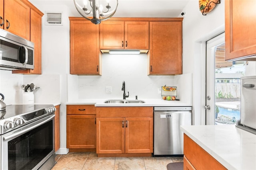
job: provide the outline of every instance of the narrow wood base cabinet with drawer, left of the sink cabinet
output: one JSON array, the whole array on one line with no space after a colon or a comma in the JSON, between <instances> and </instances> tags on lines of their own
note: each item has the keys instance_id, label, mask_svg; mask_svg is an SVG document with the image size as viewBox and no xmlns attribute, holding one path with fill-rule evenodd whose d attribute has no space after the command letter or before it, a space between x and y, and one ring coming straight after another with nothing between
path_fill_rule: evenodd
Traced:
<instances>
[{"instance_id":1,"label":"narrow wood base cabinet with drawer, left of the sink cabinet","mask_svg":"<svg viewBox=\"0 0 256 170\"><path fill-rule=\"evenodd\" d=\"M96 149L96 109L93 105L67 105L67 148L78 149L76 151Z\"/></svg>"}]
</instances>

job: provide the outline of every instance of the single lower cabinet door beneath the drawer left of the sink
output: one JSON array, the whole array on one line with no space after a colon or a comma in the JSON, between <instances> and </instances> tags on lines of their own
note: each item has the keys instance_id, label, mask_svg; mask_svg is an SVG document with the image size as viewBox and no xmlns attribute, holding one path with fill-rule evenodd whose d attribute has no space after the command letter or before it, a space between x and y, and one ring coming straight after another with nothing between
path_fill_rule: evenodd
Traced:
<instances>
[{"instance_id":1,"label":"single lower cabinet door beneath the drawer left of the sink","mask_svg":"<svg viewBox=\"0 0 256 170\"><path fill-rule=\"evenodd\" d=\"M96 115L67 115L67 148L96 148Z\"/></svg>"}]
</instances>

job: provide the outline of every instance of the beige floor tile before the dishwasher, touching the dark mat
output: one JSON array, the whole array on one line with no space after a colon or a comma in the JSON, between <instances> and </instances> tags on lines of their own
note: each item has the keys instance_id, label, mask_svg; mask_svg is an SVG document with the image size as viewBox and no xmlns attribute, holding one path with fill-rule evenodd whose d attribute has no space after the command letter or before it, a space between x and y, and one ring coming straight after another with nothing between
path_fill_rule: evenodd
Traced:
<instances>
[{"instance_id":1,"label":"beige floor tile before the dishwasher, touching the dark mat","mask_svg":"<svg viewBox=\"0 0 256 170\"><path fill-rule=\"evenodd\" d=\"M167 170L166 166L172 159L170 157L143 157L146 170Z\"/></svg>"}]
</instances>

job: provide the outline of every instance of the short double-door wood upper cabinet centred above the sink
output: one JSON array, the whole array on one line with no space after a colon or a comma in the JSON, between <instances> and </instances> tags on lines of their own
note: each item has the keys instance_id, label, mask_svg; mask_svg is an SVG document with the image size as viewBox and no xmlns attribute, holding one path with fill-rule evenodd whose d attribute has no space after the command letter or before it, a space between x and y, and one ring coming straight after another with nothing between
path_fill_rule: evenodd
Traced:
<instances>
[{"instance_id":1,"label":"short double-door wood upper cabinet centred above the sink","mask_svg":"<svg viewBox=\"0 0 256 170\"><path fill-rule=\"evenodd\" d=\"M100 49L149 49L148 21L103 21Z\"/></svg>"}]
</instances>

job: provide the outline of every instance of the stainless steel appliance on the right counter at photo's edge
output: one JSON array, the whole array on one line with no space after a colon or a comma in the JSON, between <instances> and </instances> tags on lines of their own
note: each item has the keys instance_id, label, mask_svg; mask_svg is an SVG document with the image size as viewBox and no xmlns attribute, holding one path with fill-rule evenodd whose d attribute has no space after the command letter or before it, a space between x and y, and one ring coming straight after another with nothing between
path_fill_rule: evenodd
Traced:
<instances>
[{"instance_id":1,"label":"stainless steel appliance on the right counter at photo's edge","mask_svg":"<svg viewBox=\"0 0 256 170\"><path fill-rule=\"evenodd\" d=\"M256 76L241 77L240 120L236 127L256 134Z\"/></svg>"}]
</instances>

